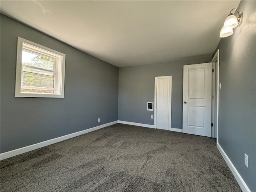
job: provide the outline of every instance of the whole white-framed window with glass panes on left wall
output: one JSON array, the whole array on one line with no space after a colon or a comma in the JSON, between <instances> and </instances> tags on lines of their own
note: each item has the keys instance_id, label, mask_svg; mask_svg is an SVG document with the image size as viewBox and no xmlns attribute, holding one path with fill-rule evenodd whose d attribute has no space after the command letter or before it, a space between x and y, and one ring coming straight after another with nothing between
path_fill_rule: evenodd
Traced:
<instances>
[{"instance_id":1,"label":"whole white-framed window with glass panes on left wall","mask_svg":"<svg viewBox=\"0 0 256 192\"><path fill-rule=\"evenodd\" d=\"M64 98L65 54L18 37L15 97Z\"/></svg>"}]
</instances>

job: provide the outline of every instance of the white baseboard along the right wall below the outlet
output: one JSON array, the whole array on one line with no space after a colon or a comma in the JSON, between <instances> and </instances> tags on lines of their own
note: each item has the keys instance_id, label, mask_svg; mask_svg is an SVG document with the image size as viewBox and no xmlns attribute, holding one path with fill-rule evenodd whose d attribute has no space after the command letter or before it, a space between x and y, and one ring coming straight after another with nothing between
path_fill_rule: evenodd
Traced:
<instances>
[{"instance_id":1,"label":"white baseboard along the right wall below the outlet","mask_svg":"<svg viewBox=\"0 0 256 192\"><path fill-rule=\"evenodd\" d=\"M228 167L230 168L231 172L236 178L236 181L238 182L239 186L241 187L243 192L251 192L246 183L244 182L243 178L240 176L238 171L236 170L235 166L232 164L231 160L228 158L227 154L224 152L222 147L220 146L219 143L217 143L217 148L220 151L220 154L228 164Z\"/></svg>"}]
</instances>

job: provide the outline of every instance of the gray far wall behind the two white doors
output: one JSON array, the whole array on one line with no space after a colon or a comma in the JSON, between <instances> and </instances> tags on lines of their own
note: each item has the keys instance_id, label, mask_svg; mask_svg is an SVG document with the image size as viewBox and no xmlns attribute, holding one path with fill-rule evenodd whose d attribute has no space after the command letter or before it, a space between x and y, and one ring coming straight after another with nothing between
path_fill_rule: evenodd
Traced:
<instances>
[{"instance_id":1,"label":"gray far wall behind the two white doors","mask_svg":"<svg viewBox=\"0 0 256 192\"><path fill-rule=\"evenodd\" d=\"M172 128L182 129L183 65L211 62L212 57L119 68L118 120L154 125L155 77L172 76Z\"/></svg>"}]
</instances>

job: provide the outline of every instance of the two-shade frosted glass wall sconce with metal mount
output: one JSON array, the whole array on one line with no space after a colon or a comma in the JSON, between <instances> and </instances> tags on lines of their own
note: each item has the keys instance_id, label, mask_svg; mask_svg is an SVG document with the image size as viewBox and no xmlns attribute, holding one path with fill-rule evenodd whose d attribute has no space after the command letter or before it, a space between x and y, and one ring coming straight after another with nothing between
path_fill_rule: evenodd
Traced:
<instances>
[{"instance_id":1,"label":"two-shade frosted glass wall sconce with metal mount","mask_svg":"<svg viewBox=\"0 0 256 192\"><path fill-rule=\"evenodd\" d=\"M232 14L232 10L235 10L238 12L238 18ZM235 27L239 27L242 24L243 21L243 14L239 13L237 9L232 9L230 11L230 14L228 14L228 17L226 18L223 27L220 30L220 37L228 37L233 34L233 29Z\"/></svg>"}]
</instances>

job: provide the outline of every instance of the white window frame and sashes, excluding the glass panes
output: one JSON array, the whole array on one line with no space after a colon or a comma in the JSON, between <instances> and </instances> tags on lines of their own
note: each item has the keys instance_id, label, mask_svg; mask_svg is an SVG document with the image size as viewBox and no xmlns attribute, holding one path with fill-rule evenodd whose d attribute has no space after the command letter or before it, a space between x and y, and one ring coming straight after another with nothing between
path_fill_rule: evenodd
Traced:
<instances>
[{"instance_id":1,"label":"white window frame and sashes, excluding the glass panes","mask_svg":"<svg viewBox=\"0 0 256 192\"><path fill-rule=\"evenodd\" d=\"M22 51L30 52L54 60L54 70L47 70L34 66L27 66L22 64ZM52 50L48 47L40 44L31 42L24 38L18 37L17 45L17 63L16 63L16 84L15 84L15 97L44 97L44 98L64 98L64 81L65 81L65 58L66 55ZM22 86L22 68L34 68L43 70L46 72L54 73L54 88L41 88L41 87L30 87ZM48 93L26 93L21 92L21 89L39 89L39 90L52 90L53 94Z\"/></svg>"}]
</instances>

